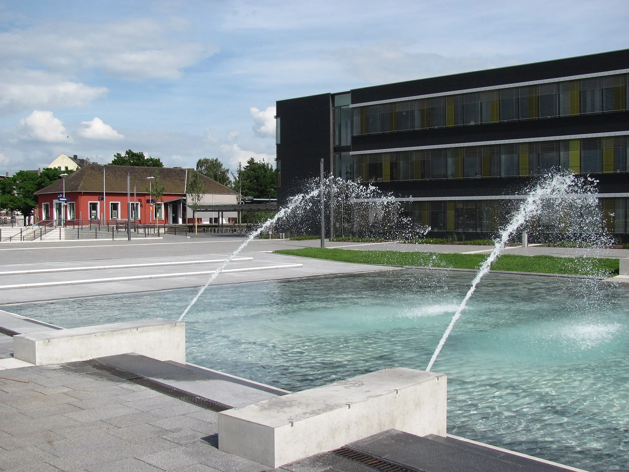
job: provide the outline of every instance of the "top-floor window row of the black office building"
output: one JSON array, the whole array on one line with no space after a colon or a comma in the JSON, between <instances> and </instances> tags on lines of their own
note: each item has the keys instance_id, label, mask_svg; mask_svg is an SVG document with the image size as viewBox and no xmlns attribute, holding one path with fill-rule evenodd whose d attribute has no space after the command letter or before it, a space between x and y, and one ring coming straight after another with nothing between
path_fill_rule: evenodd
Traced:
<instances>
[{"instance_id":1,"label":"top-floor window row of the black office building","mask_svg":"<svg viewBox=\"0 0 629 472\"><path fill-rule=\"evenodd\" d=\"M352 133L368 135L629 109L628 74L352 108Z\"/></svg>"}]
</instances>

